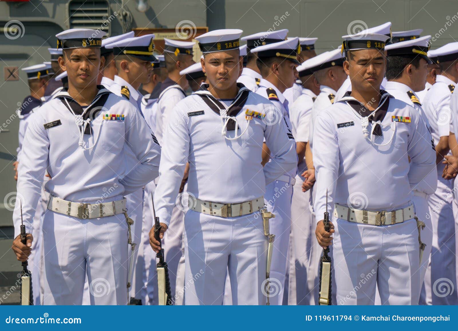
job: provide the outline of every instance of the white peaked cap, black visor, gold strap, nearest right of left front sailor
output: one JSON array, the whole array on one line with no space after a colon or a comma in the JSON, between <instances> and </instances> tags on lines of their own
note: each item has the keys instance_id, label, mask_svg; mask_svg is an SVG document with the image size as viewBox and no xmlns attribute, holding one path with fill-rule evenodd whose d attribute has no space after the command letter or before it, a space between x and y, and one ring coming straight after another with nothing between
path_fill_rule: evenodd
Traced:
<instances>
[{"instance_id":1,"label":"white peaked cap, black visor, gold strap, nearest right of left front sailor","mask_svg":"<svg viewBox=\"0 0 458 331\"><path fill-rule=\"evenodd\" d=\"M114 55L131 55L141 60L153 62L154 34L145 34L140 37L132 37L109 43L106 49L113 49Z\"/></svg>"}]
</instances>

